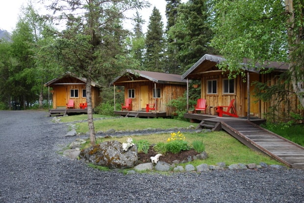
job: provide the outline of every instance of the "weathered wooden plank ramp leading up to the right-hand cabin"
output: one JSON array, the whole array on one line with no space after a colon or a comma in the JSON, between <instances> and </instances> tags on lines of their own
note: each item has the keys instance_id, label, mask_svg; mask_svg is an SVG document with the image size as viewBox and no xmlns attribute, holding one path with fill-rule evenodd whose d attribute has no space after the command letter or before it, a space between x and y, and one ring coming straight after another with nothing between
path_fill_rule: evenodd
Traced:
<instances>
[{"instance_id":1,"label":"weathered wooden plank ramp leading up to the right-hand cabin","mask_svg":"<svg viewBox=\"0 0 304 203\"><path fill-rule=\"evenodd\" d=\"M264 152L291 168L304 169L304 147L250 121L224 120L221 127L249 148Z\"/></svg>"}]
</instances>

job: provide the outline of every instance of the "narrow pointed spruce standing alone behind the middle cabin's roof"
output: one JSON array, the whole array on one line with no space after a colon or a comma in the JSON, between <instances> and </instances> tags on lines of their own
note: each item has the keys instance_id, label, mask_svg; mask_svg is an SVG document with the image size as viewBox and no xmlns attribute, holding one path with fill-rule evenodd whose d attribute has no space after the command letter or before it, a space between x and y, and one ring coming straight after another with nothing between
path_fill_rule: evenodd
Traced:
<instances>
[{"instance_id":1,"label":"narrow pointed spruce standing alone behind the middle cabin's roof","mask_svg":"<svg viewBox=\"0 0 304 203\"><path fill-rule=\"evenodd\" d=\"M145 68L148 71L164 71L164 24L161 21L159 10L154 7L149 18L148 31L145 41Z\"/></svg>"}]
</instances>

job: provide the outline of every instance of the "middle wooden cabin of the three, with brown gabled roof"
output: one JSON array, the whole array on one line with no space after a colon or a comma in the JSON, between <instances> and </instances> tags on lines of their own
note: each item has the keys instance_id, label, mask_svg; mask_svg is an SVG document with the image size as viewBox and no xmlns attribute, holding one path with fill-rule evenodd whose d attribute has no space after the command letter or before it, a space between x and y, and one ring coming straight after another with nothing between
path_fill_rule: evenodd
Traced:
<instances>
[{"instance_id":1,"label":"middle wooden cabin of the three, with brown gabled roof","mask_svg":"<svg viewBox=\"0 0 304 203\"><path fill-rule=\"evenodd\" d=\"M131 109L140 112L141 116L153 117L153 113L161 116L172 116L173 109L167 106L171 100L182 97L187 87L187 81L180 75L157 73L151 71L127 70L122 76L118 76L112 82L115 86L124 86L125 100L131 98ZM147 104L155 103L155 109L147 109ZM122 115L122 111L115 114ZM150 115L148 115L148 113Z\"/></svg>"}]
</instances>

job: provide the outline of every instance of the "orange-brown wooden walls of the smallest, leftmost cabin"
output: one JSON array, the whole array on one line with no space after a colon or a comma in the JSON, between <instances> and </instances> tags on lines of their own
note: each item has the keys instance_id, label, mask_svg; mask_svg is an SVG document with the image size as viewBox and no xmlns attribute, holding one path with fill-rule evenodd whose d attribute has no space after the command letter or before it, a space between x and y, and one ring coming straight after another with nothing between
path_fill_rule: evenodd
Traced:
<instances>
[{"instance_id":1,"label":"orange-brown wooden walls of the smallest, leftmost cabin","mask_svg":"<svg viewBox=\"0 0 304 203\"><path fill-rule=\"evenodd\" d=\"M82 90L85 90L85 84L75 85L61 85L53 86L53 108L66 108L68 100L74 100L75 108L80 108L80 103L86 102L86 97L82 96ZM72 89L78 90L78 97L71 97L70 91ZM92 106L95 108L100 102L100 89L92 87Z\"/></svg>"}]
</instances>

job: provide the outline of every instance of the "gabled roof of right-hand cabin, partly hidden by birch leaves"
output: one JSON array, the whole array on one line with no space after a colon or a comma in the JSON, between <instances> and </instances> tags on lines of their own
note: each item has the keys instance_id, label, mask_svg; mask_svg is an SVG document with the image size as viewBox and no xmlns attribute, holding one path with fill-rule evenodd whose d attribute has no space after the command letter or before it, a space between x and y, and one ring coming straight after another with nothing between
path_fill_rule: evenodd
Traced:
<instances>
[{"instance_id":1,"label":"gabled roof of right-hand cabin, partly hidden by birch leaves","mask_svg":"<svg viewBox=\"0 0 304 203\"><path fill-rule=\"evenodd\" d=\"M212 54L205 54L203 55L200 60L198 60L190 69L188 69L182 76L182 79L189 78L189 79L200 79L200 74L207 72L207 71L220 71L217 68L217 64L225 61L226 59L220 55L212 55ZM272 68L275 71L286 71L288 69L288 63L283 62L269 62L266 61L263 65L257 64L254 69L246 68L246 59L242 63L244 65L244 70L249 72L259 73L259 68Z\"/></svg>"}]
</instances>

